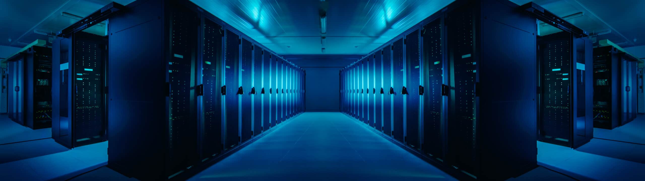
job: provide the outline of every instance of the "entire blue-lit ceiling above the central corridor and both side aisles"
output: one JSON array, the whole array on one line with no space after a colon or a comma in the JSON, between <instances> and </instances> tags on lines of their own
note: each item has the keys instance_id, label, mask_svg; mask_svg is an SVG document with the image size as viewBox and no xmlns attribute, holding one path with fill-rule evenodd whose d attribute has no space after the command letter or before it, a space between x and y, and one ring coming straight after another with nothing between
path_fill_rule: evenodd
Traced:
<instances>
[{"instance_id":1,"label":"entire blue-lit ceiling above the central corridor and both side aisles","mask_svg":"<svg viewBox=\"0 0 645 181\"><path fill-rule=\"evenodd\" d=\"M127 5L134 0L117 0ZM281 55L364 55L434 14L454 0L190 0ZM511 0L523 5L530 0ZM77 21L63 12L84 17L108 0L0 1L0 45L25 46L51 36ZM623 47L645 45L645 1L535 0L568 19L593 39L610 39ZM321 14L326 33L321 33ZM104 33L105 27L86 30ZM558 32L540 26L542 35ZM324 40L322 37L325 37ZM11 41L9 41L11 39ZM323 50L324 48L324 50Z\"/></svg>"}]
</instances>

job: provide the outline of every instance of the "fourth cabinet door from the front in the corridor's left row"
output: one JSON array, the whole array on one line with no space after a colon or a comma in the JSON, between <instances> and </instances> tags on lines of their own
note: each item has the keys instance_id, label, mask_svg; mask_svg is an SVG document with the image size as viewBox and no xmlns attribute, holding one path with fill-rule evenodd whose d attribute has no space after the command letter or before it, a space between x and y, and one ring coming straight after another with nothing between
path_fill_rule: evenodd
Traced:
<instances>
[{"instance_id":1,"label":"fourth cabinet door from the front in the corridor's left row","mask_svg":"<svg viewBox=\"0 0 645 181\"><path fill-rule=\"evenodd\" d=\"M241 39L242 54L240 57L240 71L239 82L240 88L238 91L240 102L240 142L246 142L253 135L253 115L252 115L252 83L253 83L253 44L246 40Z\"/></svg>"}]
</instances>

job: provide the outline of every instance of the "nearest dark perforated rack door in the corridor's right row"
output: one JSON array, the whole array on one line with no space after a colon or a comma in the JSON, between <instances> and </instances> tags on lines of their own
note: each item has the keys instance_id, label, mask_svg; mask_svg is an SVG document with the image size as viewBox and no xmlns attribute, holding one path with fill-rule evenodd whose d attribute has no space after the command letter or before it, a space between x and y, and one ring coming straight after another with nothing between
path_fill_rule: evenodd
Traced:
<instances>
[{"instance_id":1,"label":"nearest dark perforated rack door in the corridor's right row","mask_svg":"<svg viewBox=\"0 0 645 181\"><path fill-rule=\"evenodd\" d=\"M448 102L449 164L477 176L477 120L475 111L476 68L473 59L473 8L461 6L448 13L448 59L450 92ZM493 72L494 73L494 72Z\"/></svg>"}]
</instances>

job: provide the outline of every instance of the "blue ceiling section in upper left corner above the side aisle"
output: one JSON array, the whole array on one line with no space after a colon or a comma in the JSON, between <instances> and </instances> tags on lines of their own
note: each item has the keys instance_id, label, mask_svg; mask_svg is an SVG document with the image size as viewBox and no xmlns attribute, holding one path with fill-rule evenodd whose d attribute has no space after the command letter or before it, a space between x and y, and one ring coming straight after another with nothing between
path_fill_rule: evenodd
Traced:
<instances>
[{"instance_id":1,"label":"blue ceiling section in upper left corner above the side aisle","mask_svg":"<svg viewBox=\"0 0 645 181\"><path fill-rule=\"evenodd\" d=\"M132 1L134 0L114 2L127 5ZM0 24L5 24L0 28L0 45L23 47L36 39L51 43L52 34L75 23L80 19L79 17L85 17L111 2L108 0L0 1ZM104 35L106 26L104 24L92 26L84 31Z\"/></svg>"}]
</instances>

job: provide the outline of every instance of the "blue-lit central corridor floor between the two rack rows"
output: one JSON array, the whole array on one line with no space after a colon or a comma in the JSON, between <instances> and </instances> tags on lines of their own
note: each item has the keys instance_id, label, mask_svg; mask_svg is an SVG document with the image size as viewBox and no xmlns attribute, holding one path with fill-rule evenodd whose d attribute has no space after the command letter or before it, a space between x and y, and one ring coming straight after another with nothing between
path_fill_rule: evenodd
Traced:
<instances>
[{"instance_id":1,"label":"blue-lit central corridor floor between the two rack rows","mask_svg":"<svg viewBox=\"0 0 645 181\"><path fill-rule=\"evenodd\" d=\"M342 113L283 124L189 180L456 180Z\"/></svg>"}]
</instances>

